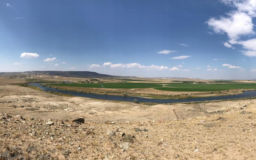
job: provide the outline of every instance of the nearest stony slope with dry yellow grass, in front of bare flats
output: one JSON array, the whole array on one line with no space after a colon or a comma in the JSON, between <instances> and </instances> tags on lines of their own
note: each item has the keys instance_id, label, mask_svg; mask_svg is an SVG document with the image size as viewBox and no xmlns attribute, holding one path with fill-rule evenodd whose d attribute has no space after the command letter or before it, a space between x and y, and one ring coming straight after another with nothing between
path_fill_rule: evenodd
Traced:
<instances>
[{"instance_id":1,"label":"nearest stony slope with dry yellow grass, in front of bare flats","mask_svg":"<svg viewBox=\"0 0 256 160\"><path fill-rule=\"evenodd\" d=\"M2 113L0 159L254 159L255 102L211 116L118 124Z\"/></svg>"}]
</instances>

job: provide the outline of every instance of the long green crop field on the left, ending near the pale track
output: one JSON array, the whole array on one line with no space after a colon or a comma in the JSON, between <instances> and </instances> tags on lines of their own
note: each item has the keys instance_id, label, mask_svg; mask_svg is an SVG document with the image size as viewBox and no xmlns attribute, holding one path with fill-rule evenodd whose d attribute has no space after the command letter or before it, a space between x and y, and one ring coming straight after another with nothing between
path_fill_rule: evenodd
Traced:
<instances>
[{"instance_id":1,"label":"long green crop field on the left, ending near the pale track","mask_svg":"<svg viewBox=\"0 0 256 160\"><path fill-rule=\"evenodd\" d=\"M161 84L151 83L69 83L69 84L47 84L53 86L66 87L89 87L89 88L118 88L118 89L132 89L132 88L155 88L162 87Z\"/></svg>"}]
</instances>

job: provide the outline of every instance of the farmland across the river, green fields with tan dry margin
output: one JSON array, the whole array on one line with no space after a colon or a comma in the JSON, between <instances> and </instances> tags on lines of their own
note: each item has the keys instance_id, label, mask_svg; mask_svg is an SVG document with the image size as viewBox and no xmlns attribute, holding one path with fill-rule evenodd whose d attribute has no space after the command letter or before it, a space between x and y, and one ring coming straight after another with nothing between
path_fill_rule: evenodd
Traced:
<instances>
[{"instance_id":1,"label":"farmland across the river, green fields with tan dry margin","mask_svg":"<svg viewBox=\"0 0 256 160\"><path fill-rule=\"evenodd\" d=\"M151 98L191 98L221 96L242 93L244 90L256 89L256 83L250 81L174 81L152 82L152 80L125 79L118 83L53 83L47 86L76 92L93 92L97 94L130 95ZM159 80L158 80L159 81ZM253 81L254 82L254 81Z\"/></svg>"}]
</instances>

